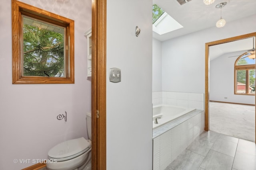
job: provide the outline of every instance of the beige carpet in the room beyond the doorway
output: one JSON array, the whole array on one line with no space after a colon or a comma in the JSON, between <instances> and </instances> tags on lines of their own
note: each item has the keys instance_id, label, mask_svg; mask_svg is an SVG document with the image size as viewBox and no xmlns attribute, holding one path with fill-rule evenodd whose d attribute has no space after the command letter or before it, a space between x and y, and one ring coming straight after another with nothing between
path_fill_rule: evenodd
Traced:
<instances>
[{"instance_id":1,"label":"beige carpet in the room beyond the doorway","mask_svg":"<svg viewBox=\"0 0 256 170\"><path fill-rule=\"evenodd\" d=\"M255 106L210 102L210 130L255 142Z\"/></svg>"}]
</instances>

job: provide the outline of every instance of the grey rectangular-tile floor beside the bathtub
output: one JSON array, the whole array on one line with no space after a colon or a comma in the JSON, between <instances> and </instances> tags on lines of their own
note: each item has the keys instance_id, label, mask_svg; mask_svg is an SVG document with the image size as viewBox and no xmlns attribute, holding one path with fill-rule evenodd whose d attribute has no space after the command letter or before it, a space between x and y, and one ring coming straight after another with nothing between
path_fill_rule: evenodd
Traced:
<instances>
[{"instance_id":1,"label":"grey rectangular-tile floor beside the bathtub","mask_svg":"<svg viewBox=\"0 0 256 170\"><path fill-rule=\"evenodd\" d=\"M165 170L256 170L256 145L204 131Z\"/></svg>"}]
</instances>

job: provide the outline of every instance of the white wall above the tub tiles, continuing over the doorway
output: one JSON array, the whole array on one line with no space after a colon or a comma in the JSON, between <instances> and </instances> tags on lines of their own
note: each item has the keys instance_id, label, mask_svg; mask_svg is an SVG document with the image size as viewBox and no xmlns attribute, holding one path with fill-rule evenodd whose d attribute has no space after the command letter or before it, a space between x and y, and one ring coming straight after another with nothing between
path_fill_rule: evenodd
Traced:
<instances>
[{"instance_id":1,"label":"white wall above the tub tiles, continuing over the doorway","mask_svg":"<svg viewBox=\"0 0 256 170\"><path fill-rule=\"evenodd\" d=\"M255 32L255 17L162 42L162 91L204 93L205 43Z\"/></svg>"}]
</instances>

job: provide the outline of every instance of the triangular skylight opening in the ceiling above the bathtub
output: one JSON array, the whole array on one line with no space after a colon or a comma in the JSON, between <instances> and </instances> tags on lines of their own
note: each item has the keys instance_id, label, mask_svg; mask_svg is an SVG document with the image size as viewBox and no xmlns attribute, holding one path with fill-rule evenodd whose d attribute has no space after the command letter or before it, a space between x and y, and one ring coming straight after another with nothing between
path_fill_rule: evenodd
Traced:
<instances>
[{"instance_id":1,"label":"triangular skylight opening in the ceiling above the bathtub","mask_svg":"<svg viewBox=\"0 0 256 170\"><path fill-rule=\"evenodd\" d=\"M152 8L153 13L153 31L158 33L159 35L174 31L176 29L180 29L183 26L180 25L176 20L174 20L171 16L169 16L162 8L153 5Z\"/></svg>"}]
</instances>

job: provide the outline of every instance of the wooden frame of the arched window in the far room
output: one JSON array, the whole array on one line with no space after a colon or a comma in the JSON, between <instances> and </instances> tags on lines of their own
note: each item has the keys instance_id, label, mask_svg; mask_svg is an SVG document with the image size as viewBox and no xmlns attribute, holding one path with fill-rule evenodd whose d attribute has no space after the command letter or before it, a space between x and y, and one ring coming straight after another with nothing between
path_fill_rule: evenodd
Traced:
<instances>
[{"instance_id":1,"label":"wooden frame of the arched window in the far room","mask_svg":"<svg viewBox=\"0 0 256 170\"><path fill-rule=\"evenodd\" d=\"M254 96L254 93L249 93L249 70L255 70L255 64L244 64L244 65L237 65L237 62L243 57L244 54L242 54L240 57L236 59L235 65L234 65L234 94L238 95L250 95ZM246 88L245 93L237 93L237 71L238 70L245 70L246 71Z\"/></svg>"}]
</instances>

